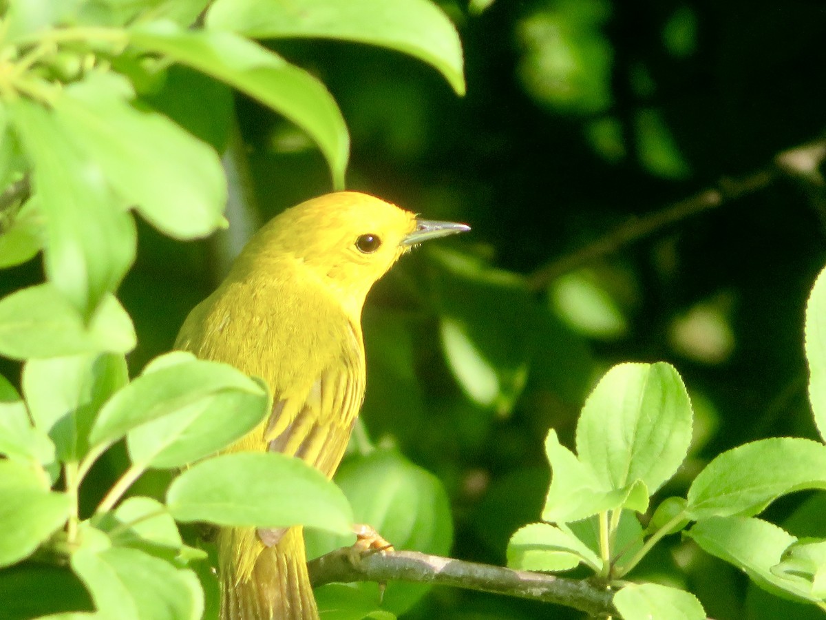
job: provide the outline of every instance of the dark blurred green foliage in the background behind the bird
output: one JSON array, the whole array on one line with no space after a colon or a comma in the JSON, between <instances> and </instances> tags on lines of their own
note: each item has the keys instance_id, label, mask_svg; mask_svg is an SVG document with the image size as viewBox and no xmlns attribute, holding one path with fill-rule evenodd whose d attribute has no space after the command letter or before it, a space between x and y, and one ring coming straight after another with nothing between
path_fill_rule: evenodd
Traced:
<instances>
[{"instance_id":1,"label":"dark blurred green foliage in the background behind the bird","mask_svg":"<svg viewBox=\"0 0 826 620\"><path fill-rule=\"evenodd\" d=\"M368 434L444 483L451 555L505 561L510 534L542 508L548 428L571 446L582 400L618 360L669 360L692 397L702 394L705 436L690 449L690 470L743 441L815 437L802 326L826 262L822 186L779 179L547 289L532 289L525 276L823 136L823 7L498 0L473 1L468 12L465 2L440 4L463 41L461 99L434 69L386 50L335 41L268 46L330 88L350 131L349 188L473 228L401 260L364 316ZM313 143L271 110L190 69L166 79L188 84L188 101L164 83L147 84L147 100L205 141L225 145L237 119L258 207L230 206L230 230L330 190ZM119 290L138 334L132 374L169 350L188 310L225 273L224 257L244 241L221 232L183 243L137 228L135 265ZM31 260L0 272L0 293L41 278ZM464 372L468 360L476 366ZM14 362L0 359L0 371L19 378ZM486 383L472 385L471 375ZM91 496L126 466L126 455L107 458ZM663 492L684 494L690 479L678 474ZM141 492L151 494L152 484ZM771 520L794 520L805 499L776 503ZM797 522L799 531L789 528L798 536L824 534L814 529L822 519ZM717 620L808 618L799 606L767 611L767 595L690 541L667 539L647 560L640 570L652 579L676 567ZM15 587L25 591L25 579ZM76 583L67 589L83 600ZM548 608L537 603L436 589L406 618L542 613Z\"/></svg>"}]
</instances>

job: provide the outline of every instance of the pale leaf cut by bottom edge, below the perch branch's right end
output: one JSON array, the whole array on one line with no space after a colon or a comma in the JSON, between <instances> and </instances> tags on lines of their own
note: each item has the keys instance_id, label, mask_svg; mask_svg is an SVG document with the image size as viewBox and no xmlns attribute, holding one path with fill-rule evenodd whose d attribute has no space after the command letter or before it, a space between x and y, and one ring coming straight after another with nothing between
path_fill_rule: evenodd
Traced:
<instances>
[{"instance_id":1,"label":"pale leaf cut by bottom edge, below the perch branch's right end","mask_svg":"<svg viewBox=\"0 0 826 620\"><path fill-rule=\"evenodd\" d=\"M659 584L629 584L614 595L623 620L705 620L705 610L694 594Z\"/></svg>"}]
</instances>

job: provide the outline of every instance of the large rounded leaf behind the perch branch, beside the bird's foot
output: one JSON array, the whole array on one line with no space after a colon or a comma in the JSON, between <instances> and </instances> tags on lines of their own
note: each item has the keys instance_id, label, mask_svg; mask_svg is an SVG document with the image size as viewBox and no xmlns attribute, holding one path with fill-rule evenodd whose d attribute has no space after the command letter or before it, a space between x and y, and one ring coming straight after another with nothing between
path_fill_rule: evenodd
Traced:
<instances>
[{"instance_id":1,"label":"large rounded leaf behind the perch branch, beside the bird's foot","mask_svg":"<svg viewBox=\"0 0 826 620\"><path fill-rule=\"evenodd\" d=\"M439 479L407 460L393 449L371 452L347 460L335 475L335 482L353 506L357 523L373 527L396 549L447 555L453 539L453 520L448 494ZM308 557L319 556L339 546L352 544L348 539L309 532ZM355 587L381 600L382 608L401 615L425 594L426 584L387 584L379 597L377 584Z\"/></svg>"}]
</instances>

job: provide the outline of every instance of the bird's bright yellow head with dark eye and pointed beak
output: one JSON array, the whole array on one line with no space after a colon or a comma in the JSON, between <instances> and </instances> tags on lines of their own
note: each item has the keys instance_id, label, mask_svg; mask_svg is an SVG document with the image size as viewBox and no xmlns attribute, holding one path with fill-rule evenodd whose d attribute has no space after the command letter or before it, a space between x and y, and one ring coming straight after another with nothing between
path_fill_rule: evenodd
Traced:
<instances>
[{"instance_id":1,"label":"bird's bright yellow head with dark eye and pointed beak","mask_svg":"<svg viewBox=\"0 0 826 620\"><path fill-rule=\"evenodd\" d=\"M464 224L421 220L365 193L328 193L274 217L240 261L248 254L259 261L290 256L355 312L370 287L412 246L468 230Z\"/></svg>"}]
</instances>

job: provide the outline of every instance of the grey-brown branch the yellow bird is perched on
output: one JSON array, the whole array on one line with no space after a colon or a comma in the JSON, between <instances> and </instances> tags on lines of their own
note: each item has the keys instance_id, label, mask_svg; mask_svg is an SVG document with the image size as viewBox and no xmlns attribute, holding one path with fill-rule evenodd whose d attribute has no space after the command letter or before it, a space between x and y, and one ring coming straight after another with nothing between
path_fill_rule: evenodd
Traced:
<instances>
[{"instance_id":1,"label":"grey-brown branch the yellow bird is perched on","mask_svg":"<svg viewBox=\"0 0 826 620\"><path fill-rule=\"evenodd\" d=\"M354 560L353 550L344 547L312 560L308 567L313 587L334 582L411 581L557 603L595 617L617 613L611 603L613 594L589 581L428 556L415 551L387 551L356 556Z\"/></svg>"}]
</instances>

